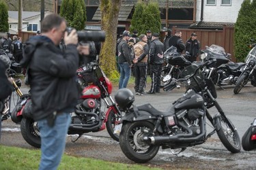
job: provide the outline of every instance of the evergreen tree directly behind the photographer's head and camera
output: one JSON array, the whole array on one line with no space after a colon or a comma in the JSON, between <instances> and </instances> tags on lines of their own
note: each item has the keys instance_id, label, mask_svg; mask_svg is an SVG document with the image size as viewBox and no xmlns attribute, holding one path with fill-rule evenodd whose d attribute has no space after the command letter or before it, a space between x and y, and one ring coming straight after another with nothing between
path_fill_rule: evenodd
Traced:
<instances>
[{"instance_id":1,"label":"evergreen tree directly behind the photographer's head and camera","mask_svg":"<svg viewBox=\"0 0 256 170\"><path fill-rule=\"evenodd\" d=\"M60 15L66 18L69 27L85 29L86 7L83 0L63 0Z\"/></svg>"}]
</instances>

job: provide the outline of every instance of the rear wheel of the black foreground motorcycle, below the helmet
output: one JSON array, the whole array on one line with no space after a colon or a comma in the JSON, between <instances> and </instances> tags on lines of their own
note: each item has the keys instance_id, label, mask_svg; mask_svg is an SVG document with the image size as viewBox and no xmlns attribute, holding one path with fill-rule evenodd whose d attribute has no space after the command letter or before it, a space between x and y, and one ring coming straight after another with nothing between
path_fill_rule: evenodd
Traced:
<instances>
[{"instance_id":1,"label":"rear wheel of the black foreground motorcycle, below the helmet","mask_svg":"<svg viewBox=\"0 0 256 170\"><path fill-rule=\"evenodd\" d=\"M146 163L156 156L159 146L143 140L143 137L152 134L153 129L154 125L147 121L123 124L119 145L127 158L136 163Z\"/></svg>"}]
</instances>

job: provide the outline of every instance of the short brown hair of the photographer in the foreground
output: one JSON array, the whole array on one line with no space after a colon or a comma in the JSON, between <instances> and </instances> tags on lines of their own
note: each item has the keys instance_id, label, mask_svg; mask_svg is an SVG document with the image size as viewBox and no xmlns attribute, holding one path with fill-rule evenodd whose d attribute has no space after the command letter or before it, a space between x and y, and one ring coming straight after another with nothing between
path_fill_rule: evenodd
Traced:
<instances>
[{"instance_id":1,"label":"short brown hair of the photographer in the foreground","mask_svg":"<svg viewBox=\"0 0 256 170\"><path fill-rule=\"evenodd\" d=\"M64 18L57 14L50 14L42 20L42 33L51 31L53 28L59 28L62 22L66 22Z\"/></svg>"}]
</instances>

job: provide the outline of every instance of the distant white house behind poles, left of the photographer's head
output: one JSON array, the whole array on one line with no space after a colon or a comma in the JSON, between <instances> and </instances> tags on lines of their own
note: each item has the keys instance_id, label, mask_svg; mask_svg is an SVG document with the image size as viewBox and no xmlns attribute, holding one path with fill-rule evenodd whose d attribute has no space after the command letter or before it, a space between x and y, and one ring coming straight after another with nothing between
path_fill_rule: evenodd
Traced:
<instances>
[{"instance_id":1,"label":"distant white house behind poles, left of the photographer's head","mask_svg":"<svg viewBox=\"0 0 256 170\"><path fill-rule=\"evenodd\" d=\"M44 16L51 14L52 12L44 12ZM10 33L18 32L18 11L8 11L8 23ZM22 31L40 31L41 14L40 12L22 12L23 28Z\"/></svg>"}]
</instances>

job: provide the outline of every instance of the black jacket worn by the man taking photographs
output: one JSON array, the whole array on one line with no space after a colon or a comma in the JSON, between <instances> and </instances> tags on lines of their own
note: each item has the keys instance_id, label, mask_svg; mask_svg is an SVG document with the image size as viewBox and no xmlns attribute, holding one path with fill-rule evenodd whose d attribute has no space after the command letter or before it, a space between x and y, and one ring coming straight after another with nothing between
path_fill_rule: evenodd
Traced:
<instances>
[{"instance_id":1,"label":"black jacket worn by the man taking photographs","mask_svg":"<svg viewBox=\"0 0 256 170\"><path fill-rule=\"evenodd\" d=\"M34 120L46 118L55 111L72 112L79 97L76 45L69 44L65 52L61 52L48 37L31 37L21 61L23 66L28 63Z\"/></svg>"}]
</instances>

